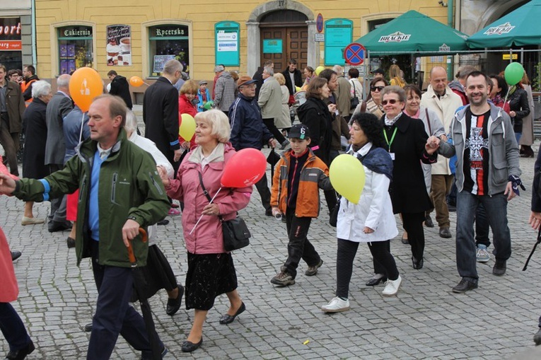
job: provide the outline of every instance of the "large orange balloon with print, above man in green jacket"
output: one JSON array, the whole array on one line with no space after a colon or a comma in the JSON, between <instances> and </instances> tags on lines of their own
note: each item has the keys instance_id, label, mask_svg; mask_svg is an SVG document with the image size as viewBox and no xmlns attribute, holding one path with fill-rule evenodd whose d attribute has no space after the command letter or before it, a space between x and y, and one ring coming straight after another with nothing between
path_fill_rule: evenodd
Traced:
<instances>
[{"instance_id":1,"label":"large orange balloon with print, above man in green jacket","mask_svg":"<svg viewBox=\"0 0 541 360\"><path fill-rule=\"evenodd\" d=\"M98 71L91 67L77 69L69 79L69 94L74 103L83 112L87 112L92 100L103 94L103 83Z\"/></svg>"}]
</instances>

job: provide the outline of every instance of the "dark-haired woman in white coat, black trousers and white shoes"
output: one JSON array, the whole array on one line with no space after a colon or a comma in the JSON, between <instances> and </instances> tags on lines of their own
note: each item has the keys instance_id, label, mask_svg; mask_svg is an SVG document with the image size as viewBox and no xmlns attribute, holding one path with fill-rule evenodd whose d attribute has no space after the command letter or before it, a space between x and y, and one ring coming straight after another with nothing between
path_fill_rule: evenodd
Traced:
<instances>
[{"instance_id":1,"label":"dark-haired woman in white coat, black trousers and white shoes","mask_svg":"<svg viewBox=\"0 0 541 360\"><path fill-rule=\"evenodd\" d=\"M383 296L397 294L402 278L390 252L390 239L398 234L389 195L392 160L383 149L383 128L378 118L359 113L351 119L352 156L359 158L365 172L364 189L359 204L342 197L337 219L337 290L336 297L322 306L326 313L349 310L349 281L359 243L368 243L374 260L385 270L388 279ZM351 179L354 181L354 179Z\"/></svg>"}]
</instances>

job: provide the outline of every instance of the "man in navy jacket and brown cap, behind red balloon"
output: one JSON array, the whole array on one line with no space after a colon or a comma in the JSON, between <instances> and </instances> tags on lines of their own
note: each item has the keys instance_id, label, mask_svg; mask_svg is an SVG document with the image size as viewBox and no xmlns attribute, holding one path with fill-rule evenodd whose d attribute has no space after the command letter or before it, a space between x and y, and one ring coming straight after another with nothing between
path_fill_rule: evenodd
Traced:
<instances>
[{"instance_id":1,"label":"man in navy jacket and brown cap, behind red balloon","mask_svg":"<svg viewBox=\"0 0 541 360\"><path fill-rule=\"evenodd\" d=\"M261 110L255 101L255 88L257 80L250 76L240 76L238 79L238 98L229 108L229 124L231 125L231 144L236 151L242 149L261 150L263 144L269 144L272 148L278 142L265 126L261 117ZM272 216L270 206L270 190L267 185L267 175L255 183L257 192L260 193L261 202L265 209L265 215Z\"/></svg>"}]
</instances>

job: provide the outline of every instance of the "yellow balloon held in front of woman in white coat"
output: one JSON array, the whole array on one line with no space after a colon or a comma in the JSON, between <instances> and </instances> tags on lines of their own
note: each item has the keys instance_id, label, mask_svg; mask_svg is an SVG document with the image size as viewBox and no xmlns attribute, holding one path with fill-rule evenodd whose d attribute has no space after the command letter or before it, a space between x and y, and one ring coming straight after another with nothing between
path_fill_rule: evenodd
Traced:
<instances>
[{"instance_id":1,"label":"yellow balloon held in front of woman in white coat","mask_svg":"<svg viewBox=\"0 0 541 360\"><path fill-rule=\"evenodd\" d=\"M355 156L343 153L332 161L329 168L332 187L343 197L359 203L364 188L364 168Z\"/></svg>"}]
</instances>

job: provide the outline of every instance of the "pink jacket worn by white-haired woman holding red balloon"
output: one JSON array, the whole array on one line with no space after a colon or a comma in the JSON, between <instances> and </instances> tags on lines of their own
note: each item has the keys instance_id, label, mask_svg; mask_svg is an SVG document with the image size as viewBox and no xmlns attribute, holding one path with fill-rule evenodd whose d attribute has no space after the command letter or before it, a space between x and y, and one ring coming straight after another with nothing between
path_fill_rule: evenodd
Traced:
<instances>
[{"instance_id":1,"label":"pink jacket worn by white-haired woman holding red balloon","mask_svg":"<svg viewBox=\"0 0 541 360\"><path fill-rule=\"evenodd\" d=\"M203 184L211 198L221 189L214 199L214 204L219 205L220 214L225 220L235 219L236 212L248 205L252 194L252 187L221 188L223 169L231 156L235 155L235 149L229 143L218 146L219 149L216 149L209 158L210 163L204 170L201 170L201 146L192 149L180 164L177 178L170 179L169 185L165 187L169 197L184 202L182 231L186 250L192 254L226 252L223 248L223 233L218 216L204 215L190 235L203 208L209 204L209 199L203 194L199 183L198 173L202 173Z\"/></svg>"}]
</instances>

